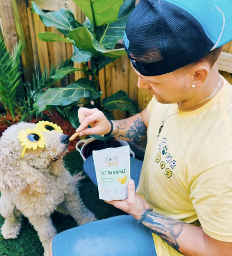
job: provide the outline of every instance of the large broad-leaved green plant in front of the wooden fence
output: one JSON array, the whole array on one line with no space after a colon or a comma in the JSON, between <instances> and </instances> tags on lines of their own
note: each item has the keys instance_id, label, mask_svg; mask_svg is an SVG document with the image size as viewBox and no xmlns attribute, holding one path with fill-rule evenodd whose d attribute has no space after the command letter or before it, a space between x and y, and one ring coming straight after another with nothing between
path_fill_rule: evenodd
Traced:
<instances>
[{"instance_id":1,"label":"large broad-leaved green plant in front of the wooden fence","mask_svg":"<svg viewBox=\"0 0 232 256\"><path fill-rule=\"evenodd\" d=\"M54 26L64 34L61 36L52 32L42 32L38 37L43 41L73 44L71 59L76 63L83 63L84 68L79 70L84 71L88 78L80 78L67 87L47 89L37 95L33 106L38 111L43 111L52 106L70 106L85 98L86 106L97 107L108 118L113 118L110 111L116 109L136 113L134 102L124 91L118 91L110 97L101 99L99 84L99 70L126 54L123 48L116 49L115 46L123 38L125 24L134 8L135 0L74 0L74 2L85 13L86 20L83 23L76 21L70 10L60 9L45 13L32 3L32 11L40 16L45 26ZM79 125L78 107L73 106L70 110L69 120L74 127Z\"/></svg>"}]
</instances>

